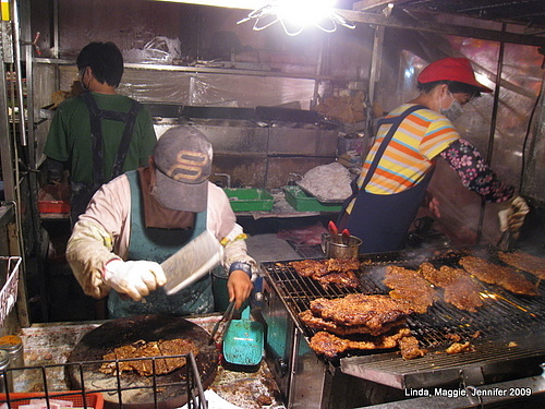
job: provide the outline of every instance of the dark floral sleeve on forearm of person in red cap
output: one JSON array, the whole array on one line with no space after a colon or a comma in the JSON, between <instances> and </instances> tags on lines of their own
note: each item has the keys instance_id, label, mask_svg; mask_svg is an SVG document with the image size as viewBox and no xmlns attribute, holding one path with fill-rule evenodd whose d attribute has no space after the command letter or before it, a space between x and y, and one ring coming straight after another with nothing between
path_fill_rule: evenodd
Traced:
<instances>
[{"instance_id":1,"label":"dark floral sleeve on forearm of person in red cap","mask_svg":"<svg viewBox=\"0 0 545 409\"><path fill-rule=\"evenodd\" d=\"M487 202L501 203L512 197L514 188L504 183L468 141L455 141L440 156L460 176L469 190Z\"/></svg>"}]
</instances>

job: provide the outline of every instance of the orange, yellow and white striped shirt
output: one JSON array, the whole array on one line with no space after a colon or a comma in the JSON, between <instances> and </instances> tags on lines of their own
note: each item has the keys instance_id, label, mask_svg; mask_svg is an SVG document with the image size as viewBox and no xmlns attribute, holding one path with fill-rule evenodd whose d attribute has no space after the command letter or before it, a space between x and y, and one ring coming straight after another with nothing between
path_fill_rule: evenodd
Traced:
<instances>
[{"instance_id":1,"label":"orange, yellow and white striped shirt","mask_svg":"<svg viewBox=\"0 0 545 409\"><path fill-rule=\"evenodd\" d=\"M386 118L398 117L411 106L413 104L404 104ZM390 127L391 124L383 124L378 129L376 141L358 179L360 188ZM365 191L392 194L417 184L433 166L432 160L458 139L460 135L445 116L431 109L412 112L393 134Z\"/></svg>"}]
</instances>

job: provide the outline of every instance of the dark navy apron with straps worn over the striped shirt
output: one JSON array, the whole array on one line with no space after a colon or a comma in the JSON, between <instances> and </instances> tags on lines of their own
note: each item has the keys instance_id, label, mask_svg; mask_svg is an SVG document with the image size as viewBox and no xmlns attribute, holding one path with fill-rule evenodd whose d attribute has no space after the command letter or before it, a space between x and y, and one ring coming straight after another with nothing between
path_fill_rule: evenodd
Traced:
<instances>
[{"instance_id":1,"label":"dark navy apron with straps worn over the striped shirt","mask_svg":"<svg viewBox=\"0 0 545 409\"><path fill-rule=\"evenodd\" d=\"M340 229L347 228L350 230L351 234L362 239L363 243L360 248L360 253L379 253L401 250L403 248L407 231L424 200L426 189L432 180L435 168L432 168L422 181L403 192L374 194L365 191L365 187L375 172L386 147L390 143L399 125L410 113L419 109L425 109L425 107L414 106L407 109L399 117L378 121L378 125L391 123L391 127L373 158L373 163L365 175L362 187L358 189L356 181L354 180L352 184L353 194L344 202L338 225ZM355 203L352 207L352 212L347 214L346 207L354 197Z\"/></svg>"}]
</instances>

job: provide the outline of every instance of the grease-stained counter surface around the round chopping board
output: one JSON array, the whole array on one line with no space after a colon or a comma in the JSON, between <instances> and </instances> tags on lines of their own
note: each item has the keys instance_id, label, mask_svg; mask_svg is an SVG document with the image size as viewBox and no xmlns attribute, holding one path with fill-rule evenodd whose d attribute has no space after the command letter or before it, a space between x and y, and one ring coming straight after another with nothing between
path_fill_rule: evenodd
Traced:
<instances>
[{"instance_id":1,"label":"grease-stained counter surface around the round chopping board","mask_svg":"<svg viewBox=\"0 0 545 409\"><path fill-rule=\"evenodd\" d=\"M219 318L219 315L214 314L189 321L210 333ZM66 390L68 384L62 364L66 362L77 341L100 324L101 322L53 323L35 324L23 328L20 335L25 348L25 366L28 369L14 374L14 390L43 392L44 378L47 378L49 390ZM59 365L55 366L57 364ZM44 365L48 368L44 370ZM265 361L254 373L229 371L219 365L210 389L240 408L283 408L278 386Z\"/></svg>"}]
</instances>

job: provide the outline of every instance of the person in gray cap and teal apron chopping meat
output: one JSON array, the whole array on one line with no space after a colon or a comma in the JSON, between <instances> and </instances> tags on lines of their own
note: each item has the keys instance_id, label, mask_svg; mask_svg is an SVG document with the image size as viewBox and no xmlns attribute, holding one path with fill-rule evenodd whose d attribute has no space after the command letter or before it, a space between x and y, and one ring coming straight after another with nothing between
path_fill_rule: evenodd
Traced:
<instances>
[{"instance_id":1,"label":"person in gray cap and teal apron chopping meat","mask_svg":"<svg viewBox=\"0 0 545 409\"><path fill-rule=\"evenodd\" d=\"M75 224L66 260L87 296L108 294L109 317L214 310L210 276L167 296L159 263L208 230L223 245L230 301L250 296L255 261L223 190L208 181L213 148L192 127L157 142L149 165L102 185Z\"/></svg>"}]
</instances>

